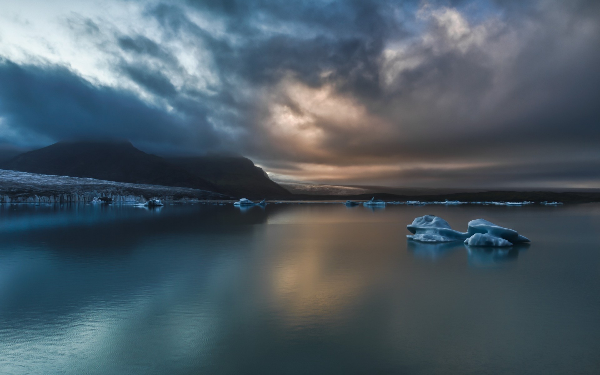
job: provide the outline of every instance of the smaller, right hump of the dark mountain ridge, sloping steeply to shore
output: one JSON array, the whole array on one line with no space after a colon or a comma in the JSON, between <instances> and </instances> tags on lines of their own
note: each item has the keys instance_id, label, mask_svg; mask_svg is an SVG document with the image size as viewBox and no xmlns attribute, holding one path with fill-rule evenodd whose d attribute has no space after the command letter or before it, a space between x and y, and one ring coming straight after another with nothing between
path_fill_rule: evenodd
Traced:
<instances>
[{"instance_id":1,"label":"smaller, right hump of the dark mountain ridge, sloping steeply to shore","mask_svg":"<svg viewBox=\"0 0 600 375\"><path fill-rule=\"evenodd\" d=\"M285 198L291 194L271 181L265 171L245 157L205 155L173 157L167 160L221 188L224 193L250 199Z\"/></svg>"}]
</instances>

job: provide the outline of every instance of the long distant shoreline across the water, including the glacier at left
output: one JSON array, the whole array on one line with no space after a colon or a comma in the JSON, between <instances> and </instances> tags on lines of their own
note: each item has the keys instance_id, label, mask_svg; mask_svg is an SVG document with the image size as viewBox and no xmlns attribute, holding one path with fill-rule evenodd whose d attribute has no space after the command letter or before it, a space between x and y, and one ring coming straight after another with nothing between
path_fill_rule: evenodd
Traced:
<instances>
[{"instance_id":1,"label":"long distant shoreline across the water, including the glacier at left","mask_svg":"<svg viewBox=\"0 0 600 375\"><path fill-rule=\"evenodd\" d=\"M142 202L149 199L167 201L216 200L228 201L237 198L278 200L281 202L318 202L323 200L369 200L372 197L387 202L600 202L597 192L553 192L553 191L475 191L434 195L399 195L390 193L364 193L356 195L311 195L248 196L231 197L212 191L163 185L130 184L92 178L40 175L14 170L0 170L0 203L53 203L89 202L94 197L110 197L113 202Z\"/></svg>"}]
</instances>

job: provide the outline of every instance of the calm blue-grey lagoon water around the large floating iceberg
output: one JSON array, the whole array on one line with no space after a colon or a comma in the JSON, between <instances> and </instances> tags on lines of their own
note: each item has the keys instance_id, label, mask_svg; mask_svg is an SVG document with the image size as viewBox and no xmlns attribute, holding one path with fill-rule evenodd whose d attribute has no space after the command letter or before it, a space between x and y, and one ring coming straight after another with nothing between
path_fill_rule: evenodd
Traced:
<instances>
[{"instance_id":1,"label":"calm blue-grey lagoon water around the large floating iceberg","mask_svg":"<svg viewBox=\"0 0 600 375\"><path fill-rule=\"evenodd\" d=\"M424 214L529 247L407 243ZM598 374L600 205L0 205L0 374Z\"/></svg>"}]
</instances>

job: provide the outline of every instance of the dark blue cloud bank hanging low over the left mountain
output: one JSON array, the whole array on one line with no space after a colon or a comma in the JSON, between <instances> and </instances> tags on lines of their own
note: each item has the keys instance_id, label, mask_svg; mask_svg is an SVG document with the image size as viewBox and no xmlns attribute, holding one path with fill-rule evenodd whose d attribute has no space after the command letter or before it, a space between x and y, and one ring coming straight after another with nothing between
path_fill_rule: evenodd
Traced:
<instances>
[{"instance_id":1,"label":"dark blue cloud bank hanging low over the left mountain","mask_svg":"<svg viewBox=\"0 0 600 375\"><path fill-rule=\"evenodd\" d=\"M185 119L141 101L127 91L95 86L63 67L17 65L0 60L0 112L11 130L35 137L77 139L125 137L133 142L215 142ZM190 144L187 140L193 139Z\"/></svg>"}]
</instances>

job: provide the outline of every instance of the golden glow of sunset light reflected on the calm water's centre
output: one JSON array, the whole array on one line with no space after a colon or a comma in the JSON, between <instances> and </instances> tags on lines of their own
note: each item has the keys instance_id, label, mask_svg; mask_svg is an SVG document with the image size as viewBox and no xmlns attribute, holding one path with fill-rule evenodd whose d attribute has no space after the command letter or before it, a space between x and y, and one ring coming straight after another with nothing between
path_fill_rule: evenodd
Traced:
<instances>
[{"instance_id":1,"label":"golden glow of sunset light reflected on the calm water's centre","mask_svg":"<svg viewBox=\"0 0 600 375\"><path fill-rule=\"evenodd\" d=\"M364 221L341 225L349 219L347 212L335 211L337 214L321 217L319 223L298 225L296 221L286 230L285 238L279 237L281 224L267 226L274 227L273 236L267 233L272 241L269 247L278 251L268 271L269 293L272 304L283 310L281 316L286 317L287 325L315 319L341 323L340 317L347 315L344 310L351 311L361 296L368 294L381 269L389 266L385 264L387 257L381 256L388 253L386 245L368 235L382 230L378 229L379 220L367 227ZM295 220L302 221L302 215ZM285 217L274 221L289 223ZM393 229L389 225L386 228ZM373 256L372 248L380 251L377 256Z\"/></svg>"}]
</instances>

